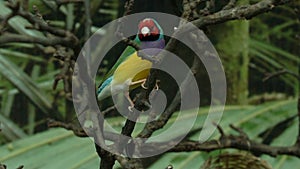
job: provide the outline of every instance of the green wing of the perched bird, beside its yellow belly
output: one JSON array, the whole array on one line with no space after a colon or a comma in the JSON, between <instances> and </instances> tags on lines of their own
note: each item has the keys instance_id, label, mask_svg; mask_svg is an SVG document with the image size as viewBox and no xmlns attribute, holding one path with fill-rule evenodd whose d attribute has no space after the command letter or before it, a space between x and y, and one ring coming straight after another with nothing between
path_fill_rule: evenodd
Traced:
<instances>
[{"instance_id":1,"label":"green wing of the perched bird, beside its yellow belly","mask_svg":"<svg viewBox=\"0 0 300 169\"><path fill-rule=\"evenodd\" d=\"M134 42L137 43L138 45L140 45L141 41L136 37L134 39ZM117 67L124 62L128 56L130 56L131 54L133 54L135 52L135 49L131 46L127 46L125 48L125 50L123 51L123 53L121 54L121 56L119 57L119 59L116 61L116 63L113 65L113 67L109 70L109 72L104 76L103 81L105 81L106 79L108 79L110 76L112 76L115 72L115 70L117 69Z\"/></svg>"}]
</instances>

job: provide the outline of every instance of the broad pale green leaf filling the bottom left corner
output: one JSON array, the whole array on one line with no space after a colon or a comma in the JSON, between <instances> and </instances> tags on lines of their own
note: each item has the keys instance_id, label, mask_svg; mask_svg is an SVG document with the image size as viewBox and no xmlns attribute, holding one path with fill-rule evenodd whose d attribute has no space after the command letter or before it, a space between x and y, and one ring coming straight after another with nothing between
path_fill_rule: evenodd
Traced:
<instances>
[{"instance_id":1,"label":"broad pale green leaf filling the bottom left corner","mask_svg":"<svg viewBox=\"0 0 300 169\"><path fill-rule=\"evenodd\" d=\"M64 129L51 129L0 147L0 161L8 168L77 169L99 165L94 144Z\"/></svg>"}]
</instances>

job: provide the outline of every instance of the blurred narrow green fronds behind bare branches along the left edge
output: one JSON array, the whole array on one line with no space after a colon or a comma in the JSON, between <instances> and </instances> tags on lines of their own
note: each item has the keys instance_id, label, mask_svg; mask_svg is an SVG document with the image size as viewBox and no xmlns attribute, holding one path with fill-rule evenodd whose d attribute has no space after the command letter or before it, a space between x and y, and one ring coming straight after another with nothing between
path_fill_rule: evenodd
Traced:
<instances>
[{"instance_id":1,"label":"blurred narrow green fronds behind bare branches along the left edge","mask_svg":"<svg viewBox=\"0 0 300 169\"><path fill-rule=\"evenodd\" d=\"M0 1L0 16L7 16L10 12L5 2ZM7 27L22 35L46 38L42 32L27 28L30 26L27 20L16 16L8 21ZM1 46L0 115L4 136L0 136L0 144L25 137L27 133L33 134L41 120L56 116L52 85L59 70L53 63L48 64L49 56L43 53L44 49L41 45L22 43Z\"/></svg>"}]
</instances>

